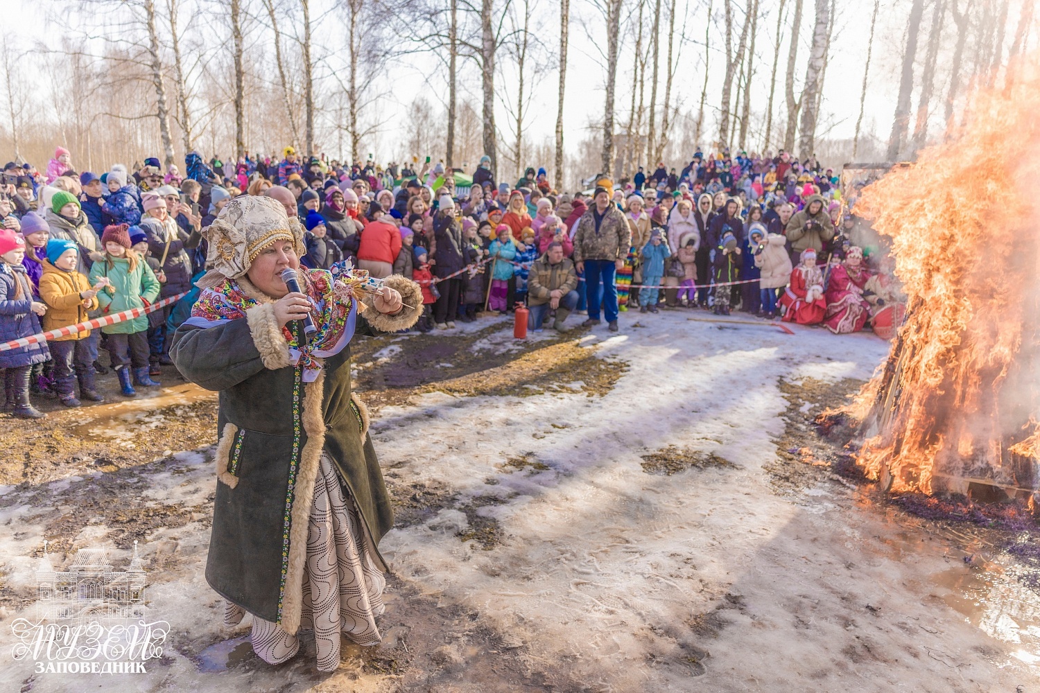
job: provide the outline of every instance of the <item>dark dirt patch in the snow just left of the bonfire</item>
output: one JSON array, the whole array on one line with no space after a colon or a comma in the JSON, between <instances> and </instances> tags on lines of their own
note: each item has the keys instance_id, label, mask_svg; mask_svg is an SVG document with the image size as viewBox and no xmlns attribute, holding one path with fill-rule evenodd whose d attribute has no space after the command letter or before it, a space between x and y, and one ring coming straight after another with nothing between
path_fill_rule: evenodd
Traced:
<instances>
[{"instance_id":1,"label":"dark dirt patch in the snow just left of the bonfire","mask_svg":"<svg viewBox=\"0 0 1040 693\"><path fill-rule=\"evenodd\" d=\"M849 479L863 480L847 447L852 437L851 423L836 421L832 411L844 406L863 381L844 378L826 382L816 378L780 381L787 400L784 432L777 439L777 461L763 465L774 490L798 496L822 481L849 485Z\"/></svg>"}]
</instances>

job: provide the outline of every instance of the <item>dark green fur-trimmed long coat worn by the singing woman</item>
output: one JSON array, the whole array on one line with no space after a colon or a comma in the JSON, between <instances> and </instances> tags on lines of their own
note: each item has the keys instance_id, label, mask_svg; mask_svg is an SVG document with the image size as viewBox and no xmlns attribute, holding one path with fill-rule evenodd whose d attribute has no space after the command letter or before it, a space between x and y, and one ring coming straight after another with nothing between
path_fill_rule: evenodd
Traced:
<instances>
[{"instance_id":1,"label":"dark green fur-trimmed long coat worn by the singing woman","mask_svg":"<svg viewBox=\"0 0 1040 693\"><path fill-rule=\"evenodd\" d=\"M349 345L324 358L313 382L303 382L275 320L274 299L243 278L238 283L261 301L245 319L206 328L184 323L170 350L185 378L220 393L206 580L226 599L296 633L321 451L335 461L373 550L393 526L393 512L368 437L367 411L350 391ZM422 310L419 287L401 276L387 277L386 286L416 308L388 316L369 306L358 317L355 335L415 323ZM372 558L386 569L378 550Z\"/></svg>"}]
</instances>

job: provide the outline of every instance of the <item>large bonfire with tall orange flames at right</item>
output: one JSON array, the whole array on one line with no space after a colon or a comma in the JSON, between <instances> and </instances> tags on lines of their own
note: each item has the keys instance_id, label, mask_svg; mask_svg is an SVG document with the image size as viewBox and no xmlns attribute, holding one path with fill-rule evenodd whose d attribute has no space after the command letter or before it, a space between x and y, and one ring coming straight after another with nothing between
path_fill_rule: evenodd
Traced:
<instances>
[{"instance_id":1,"label":"large bonfire with tall orange flames at right","mask_svg":"<svg viewBox=\"0 0 1040 693\"><path fill-rule=\"evenodd\" d=\"M1038 182L1034 61L973 95L961 128L856 205L890 239L908 296L858 398L858 462L895 492L996 487L1032 503L1040 487Z\"/></svg>"}]
</instances>

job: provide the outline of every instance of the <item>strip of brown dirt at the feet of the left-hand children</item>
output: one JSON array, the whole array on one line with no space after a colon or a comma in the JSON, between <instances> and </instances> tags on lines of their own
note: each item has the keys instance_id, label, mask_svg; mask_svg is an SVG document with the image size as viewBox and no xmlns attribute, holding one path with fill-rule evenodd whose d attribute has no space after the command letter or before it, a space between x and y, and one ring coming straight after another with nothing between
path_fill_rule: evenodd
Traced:
<instances>
[{"instance_id":1,"label":"strip of brown dirt at the feet of the left-hand children","mask_svg":"<svg viewBox=\"0 0 1040 693\"><path fill-rule=\"evenodd\" d=\"M179 379L163 367L161 390L119 394L115 375L98 375L100 404L67 408L47 395L33 404L47 418L0 415L0 485L42 484L73 475L131 468L181 450L216 443L216 393ZM89 404L89 405L87 405Z\"/></svg>"}]
</instances>

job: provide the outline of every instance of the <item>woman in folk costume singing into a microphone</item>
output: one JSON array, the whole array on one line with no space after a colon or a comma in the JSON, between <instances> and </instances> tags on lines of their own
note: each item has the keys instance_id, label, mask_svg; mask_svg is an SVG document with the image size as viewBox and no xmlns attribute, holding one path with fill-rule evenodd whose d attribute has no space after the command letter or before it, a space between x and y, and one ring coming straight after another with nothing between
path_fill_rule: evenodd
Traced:
<instances>
[{"instance_id":1,"label":"woman in folk costume singing into a microphone","mask_svg":"<svg viewBox=\"0 0 1040 693\"><path fill-rule=\"evenodd\" d=\"M341 633L362 645L381 639L376 547L393 523L368 415L350 392L349 342L410 327L420 290L390 276L363 292L345 265L301 268L298 219L270 197L232 199L203 233L212 269L171 355L188 380L220 393L206 580L227 601L226 623L253 615L265 662L295 655L308 629L318 670L331 671ZM285 268L305 293L288 291Z\"/></svg>"}]
</instances>

